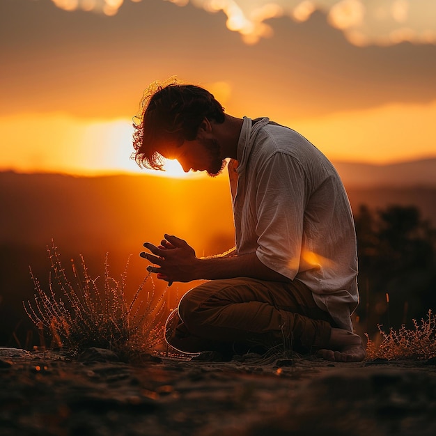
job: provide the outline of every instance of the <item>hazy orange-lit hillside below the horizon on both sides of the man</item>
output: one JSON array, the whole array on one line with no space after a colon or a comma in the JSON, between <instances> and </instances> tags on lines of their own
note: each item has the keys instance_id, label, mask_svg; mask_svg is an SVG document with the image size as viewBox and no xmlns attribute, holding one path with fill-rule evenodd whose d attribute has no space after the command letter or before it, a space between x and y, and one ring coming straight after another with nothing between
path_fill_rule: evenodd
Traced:
<instances>
[{"instance_id":1,"label":"hazy orange-lit hillside below the horizon on both sides of the man","mask_svg":"<svg viewBox=\"0 0 436 436\"><path fill-rule=\"evenodd\" d=\"M345 178L346 180L346 178ZM436 223L436 186L345 184L354 212L359 205L416 205ZM153 176L75 178L59 174L0 173L0 242L58 244L134 251L163 233L180 235L197 250L233 244L228 181ZM212 249L212 251L215 251Z\"/></svg>"}]
</instances>

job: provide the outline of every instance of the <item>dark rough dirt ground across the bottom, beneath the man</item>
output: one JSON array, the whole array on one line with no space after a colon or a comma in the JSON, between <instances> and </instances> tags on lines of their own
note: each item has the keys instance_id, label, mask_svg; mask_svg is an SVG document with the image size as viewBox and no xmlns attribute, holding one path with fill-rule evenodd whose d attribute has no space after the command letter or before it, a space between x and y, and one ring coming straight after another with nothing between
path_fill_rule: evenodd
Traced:
<instances>
[{"instance_id":1,"label":"dark rough dirt ground across the bottom, beneath the man","mask_svg":"<svg viewBox=\"0 0 436 436\"><path fill-rule=\"evenodd\" d=\"M436 435L436 361L0 348L0 435Z\"/></svg>"}]
</instances>

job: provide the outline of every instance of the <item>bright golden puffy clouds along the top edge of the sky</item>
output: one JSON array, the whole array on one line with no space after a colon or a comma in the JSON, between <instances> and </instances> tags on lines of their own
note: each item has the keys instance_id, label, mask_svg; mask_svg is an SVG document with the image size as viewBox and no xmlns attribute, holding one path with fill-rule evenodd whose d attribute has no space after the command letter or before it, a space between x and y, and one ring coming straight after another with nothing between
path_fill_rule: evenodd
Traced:
<instances>
[{"instance_id":1,"label":"bright golden puffy clouds along the top edge of the sky","mask_svg":"<svg viewBox=\"0 0 436 436\"><path fill-rule=\"evenodd\" d=\"M126 0L128 1L128 0ZM141 0L130 0L139 2ZM163 0L178 6L192 3L210 13L222 11L226 26L247 44L273 35L268 20L283 15L302 22L315 10L327 14L329 24L343 31L354 45L394 45L410 41L436 44L434 0ZM124 0L52 0L65 10L115 15Z\"/></svg>"}]
</instances>

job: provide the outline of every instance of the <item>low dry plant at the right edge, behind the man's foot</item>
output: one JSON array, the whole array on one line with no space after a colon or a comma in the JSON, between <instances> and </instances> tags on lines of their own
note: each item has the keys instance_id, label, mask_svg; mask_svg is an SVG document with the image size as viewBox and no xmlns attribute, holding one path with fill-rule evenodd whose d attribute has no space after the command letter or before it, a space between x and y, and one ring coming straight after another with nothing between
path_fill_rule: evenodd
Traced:
<instances>
[{"instance_id":1,"label":"low dry plant at the right edge, behind the man's foot","mask_svg":"<svg viewBox=\"0 0 436 436\"><path fill-rule=\"evenodd\" d=\"M421 324L413 320L414 329L403 325L398 331L389 329L386 333L379 325L382 342L377 345L368 338L366 345L367 359L417 359L427 360L436 357L436 317L428 311L426 320Z\"/></svg>"}]
</instances>

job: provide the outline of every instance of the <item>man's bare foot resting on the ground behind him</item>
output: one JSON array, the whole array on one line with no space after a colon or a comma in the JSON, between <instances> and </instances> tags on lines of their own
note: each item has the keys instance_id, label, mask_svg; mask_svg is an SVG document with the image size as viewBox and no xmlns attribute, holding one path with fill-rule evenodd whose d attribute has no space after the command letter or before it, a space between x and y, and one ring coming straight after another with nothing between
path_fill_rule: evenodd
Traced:
<instances>
[{"instance_id":1,"label":"man's bare foot resting on the ground behind him","mask_svg":"<svg viewBox=\"0 0 436 436\"><path fill-rule=\"evenodd\" d=\"M319 350L316 354L330 361L362 361L366 356L360 336L344 329L332 328L329 348Z\"/></svg>"}]
</instances>

